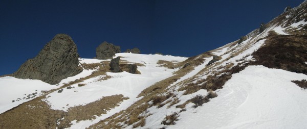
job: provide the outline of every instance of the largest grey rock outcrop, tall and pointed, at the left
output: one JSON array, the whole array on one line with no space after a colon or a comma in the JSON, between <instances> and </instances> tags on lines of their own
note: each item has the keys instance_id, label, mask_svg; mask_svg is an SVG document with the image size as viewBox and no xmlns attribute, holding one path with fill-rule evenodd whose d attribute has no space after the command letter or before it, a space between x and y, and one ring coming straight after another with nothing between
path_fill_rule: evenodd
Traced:
<instances>
[{"instance_id":1,"label":"largest grey rock outcrop, tall and pointed, at the left","mask_svg":"<svg viewBox=\"0 0 307 129\"><path fill-rule=\"evenodd\" d=\"M77 46L72 38L66 34L57 34L36 57L27 60L12 76L58 84L62 79L82 71L78 67L78 58Z\"/></svg>"}]
</instances>

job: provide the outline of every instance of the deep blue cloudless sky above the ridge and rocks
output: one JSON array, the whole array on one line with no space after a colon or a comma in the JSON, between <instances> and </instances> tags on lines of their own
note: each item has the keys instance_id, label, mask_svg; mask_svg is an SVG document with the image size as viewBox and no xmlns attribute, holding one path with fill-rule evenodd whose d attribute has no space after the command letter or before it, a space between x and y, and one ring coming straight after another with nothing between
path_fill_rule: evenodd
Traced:
<instances>
[{"instance_id":1,"label":"deep blue cloudless sky above the ridge and rocks","mask_svg":"<svg viewBox=\"0 0 307 129\"><path fill-rule=\"evenodd\" d=\"M191 57L235 41L303 0L27 1L0 0L0 75L16 71L56 34L82 58L103 41Z\"/></svg>"}]
</instances>

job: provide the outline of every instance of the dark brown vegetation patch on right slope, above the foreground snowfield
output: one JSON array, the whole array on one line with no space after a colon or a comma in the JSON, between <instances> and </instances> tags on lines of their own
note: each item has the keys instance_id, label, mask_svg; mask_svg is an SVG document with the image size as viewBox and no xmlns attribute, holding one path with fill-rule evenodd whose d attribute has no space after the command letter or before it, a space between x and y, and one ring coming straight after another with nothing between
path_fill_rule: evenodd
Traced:
<instances>
[{"instance_id":1,"label":"dark brown vegetation patch on right slope, above the foreground snowfield","mask_svg":"<svg viewBox=\"0 0 307 129\"><path fill-rule=\"evenodd\" d=\"M306 51L307 36L276 35L271 32L266 45L253 53L256 62L252 64L307 74Z\"/></svg>"}]
</instances>

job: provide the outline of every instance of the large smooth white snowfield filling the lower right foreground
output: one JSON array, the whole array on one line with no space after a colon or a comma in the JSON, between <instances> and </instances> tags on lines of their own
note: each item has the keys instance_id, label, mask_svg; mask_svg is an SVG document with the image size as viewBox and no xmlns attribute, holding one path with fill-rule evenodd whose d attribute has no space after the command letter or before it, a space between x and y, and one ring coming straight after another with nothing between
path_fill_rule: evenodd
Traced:
<instances>
[{"instance_id":1,"label":"large smooth white snowfield filling the lower right foreground","mask_svg":"<svg viewBox=\"0 0 307 129\"><path fill-rule=\"evenodd\" d=\"M302 79L307 75L248 66L232 74L216 98L196 109L187 105L167 128L305 128L307 90L291 82Z\"/></svg>"}]
</instances>

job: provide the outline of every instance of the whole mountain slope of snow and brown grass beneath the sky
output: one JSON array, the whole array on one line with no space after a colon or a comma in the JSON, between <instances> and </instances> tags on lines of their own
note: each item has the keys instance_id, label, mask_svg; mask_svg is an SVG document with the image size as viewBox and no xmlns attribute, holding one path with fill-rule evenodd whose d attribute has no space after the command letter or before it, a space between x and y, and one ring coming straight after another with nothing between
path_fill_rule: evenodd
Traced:
<instances>
[{"instance_id":1,"label":"whole mountain slope of snow and brown grass beneath the sky","mask_svg":"<svg viewBox=\"0 0 307 129\"><path fill-rule=\"evenodd\" d=\"M304 128L307 91L292 81L307 80L306 8L195 57L116 54L140 74L79 59L81 73L2 99L0 128ZM35 83L4 77L0 91Z\"/></svg>"}]
</instances>

